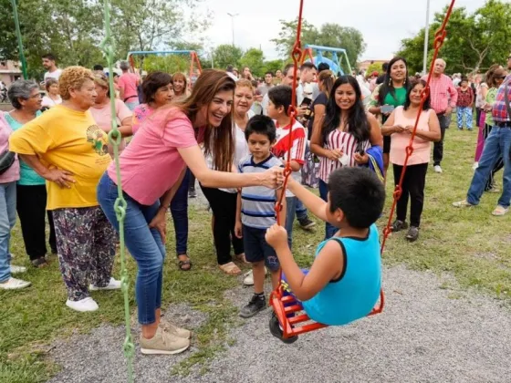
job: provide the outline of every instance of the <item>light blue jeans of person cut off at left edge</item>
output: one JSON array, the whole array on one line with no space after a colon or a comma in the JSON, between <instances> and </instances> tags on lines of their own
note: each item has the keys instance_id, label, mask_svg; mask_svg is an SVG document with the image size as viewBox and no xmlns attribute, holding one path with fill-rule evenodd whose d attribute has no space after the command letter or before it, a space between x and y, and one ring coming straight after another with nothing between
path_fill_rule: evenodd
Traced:
<instances>
[{"instance_id":1,"label":"light blue jeans of person cut off at left edge","mask_svg":"<svg viewBox=\"0 0 511 383\"><path fill-rule=\"evenodd\" d=\"M11 277L9 241L16 223L16 181L0 183L0 282Z\"/></svg>"}]
</instances>

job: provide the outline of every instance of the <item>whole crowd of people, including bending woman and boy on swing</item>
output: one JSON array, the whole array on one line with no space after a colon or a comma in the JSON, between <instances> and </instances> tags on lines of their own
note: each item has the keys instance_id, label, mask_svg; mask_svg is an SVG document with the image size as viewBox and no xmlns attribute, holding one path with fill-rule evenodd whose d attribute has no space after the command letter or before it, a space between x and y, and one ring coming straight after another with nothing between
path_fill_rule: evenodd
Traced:
<instances>
[{"instance_id":1,"label":"whole crowd of people, including bending woman and boy on swing","mask_svg":"<svg viewBox=\"0 0 511 383\"><path fill-rule=\"evenodd\" d=\"M52 55L43 57L43 66L46 95L41 97L36 82L17 80L7 91L13 109L0 113L0 288L30 285L12 276L26 270L11 264L17 212L31 264L47 265L47 243L57 254L69 308L98 310L91 291L120 289L112 277L119 232L118 180L107 136L113 118L122 135L125 239L138 266L144 354L176 354L190 346L191 332L162 318L162 276L168 211L177 266L192 269L188 199L196 196L196 182L212 211L219 269L238 275L237 262L251 264L243 283L254 286L254 295L240 310L245 318L266 307L268 270L274 288L283 270L288 293L318 322L344 325L370 312L381 286L374 223L383 210L390 164L393 182L401 178L417 116L392 231L407 230L411 242L419 238L432 146L433 170L442 173L445 129L454 109L458 129L471 130L475 107L480 131L474 179L466 200L454 206L476 205L484 191L498 191L495 172L504 168L493 214L509 210L511 56L506 68L495 65L484 81L477 75L474 82L449 78L446 63L437 59L424 100L426 77L410 76L404 57L392 58L370 82L305 62L259 80L248 67L241 73L232 66L207 69L193 87L182 73L155 71L141 78L128 62L120 62L120 76L101 66L60 69ZM297 119L289 115L294 83ZM287 163L291 175L283 191ZM302 185L318 187L319 197ZM274 207L280 200L278 226ZM314 227L309 213L325 223L325 241L310 271L302 271L291 253L293 230L295 217L302 229ZM286 342L296 340L282 338L276 316L270 328Z\"/></svg>"}]
</instances>

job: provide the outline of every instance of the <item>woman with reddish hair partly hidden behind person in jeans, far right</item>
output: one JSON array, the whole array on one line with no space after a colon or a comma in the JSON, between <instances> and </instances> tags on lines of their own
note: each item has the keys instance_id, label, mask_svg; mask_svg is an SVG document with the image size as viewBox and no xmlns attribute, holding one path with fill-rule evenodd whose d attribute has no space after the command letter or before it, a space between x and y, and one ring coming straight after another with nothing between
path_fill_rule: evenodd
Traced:
<instances>
[{"instance_id":1,"label":"woman with reddish hair partly hidden behind person in jeans, far right","mask_svg":"<svg viewBox=\"0 0 511 383\"><path fill-rule=\"evenodd\" d=\"M488 84L488 92L486 93L486 99L485 99L485 105L483 106L483 109L485 109L486 112L486 119L485 119L485 129L483 130L483 140L486 140L486 137L489 136L490 131L492 131L492 128L494 126L494 117L492 115L492 109L495 104L495 98L496 98L496 92L498 88L502 85L504 82L504 78L506 78L507 72L504 70L503 67L497 67L495 69L490 69L486 73L486 83ZM498 189L495 187L495 173L497 171L500 171L502 168L504 168L504 160L503 158L499 158L494 166L493 171L490 173L490 177L488 178L488 181L486 181L485 191L490 192L499 192Z\"/></svg>"}]
</instances>

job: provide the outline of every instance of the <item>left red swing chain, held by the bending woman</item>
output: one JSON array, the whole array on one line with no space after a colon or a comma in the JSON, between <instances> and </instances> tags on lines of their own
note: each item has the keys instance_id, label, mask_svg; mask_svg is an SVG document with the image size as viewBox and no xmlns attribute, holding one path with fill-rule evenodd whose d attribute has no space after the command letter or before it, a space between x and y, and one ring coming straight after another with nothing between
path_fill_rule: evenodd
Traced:
<instances>
[{"instance_id":1,"label":"left red swing chain, held by the bending woman","mask_svg":"<svg viewBox=\"0 0 511 383\"><path fill-rule=\"evenodd\" d=\"M300 0L300 10L298 13L297 24L297 39L295 40L295 45L293 46L293 50L291 52L291 57L293 58L294 63L293 88L291 93L291 105L289 105L289 109L287 109L287 116L291 118L291 121L289 122L289 134L287 135L289 143L287 148L286 167L284 169L284 183L282 184L282 193L280 194L280 198L278 199L275 205L276 223L278 224L280 224L280 212L282 212L282 201L286 197L287 180L289 178L289 175L291 174L291 147L293 146L293 126L295 125L295 117L297 116L297 107L295 106L295 104L297 103L297 73L299 65L298 63L300 61L300 58L302 57L301 48L302 43L300 40L300 35L302 34L303 2L304 0Z\"/></svg>"}]
</instances>

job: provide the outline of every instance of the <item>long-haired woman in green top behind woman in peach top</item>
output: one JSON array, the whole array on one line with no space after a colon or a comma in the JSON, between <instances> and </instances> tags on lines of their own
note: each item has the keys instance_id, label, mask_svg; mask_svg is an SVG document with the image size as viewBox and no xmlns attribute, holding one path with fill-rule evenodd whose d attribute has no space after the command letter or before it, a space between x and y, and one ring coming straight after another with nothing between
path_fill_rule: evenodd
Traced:
<instances>
[{"instance_id":1,"label":"long-haired woman in green top behind woman in peach top","mask_svg":"<svg viewBox=\"0 0 511 383\"><path fill-rule=\"evenodd\" d=\"M370 95L368 110L375 116L381 115L381 125L391 115L393 109L401 107L406 101L408 91L408 64L403 57L394 57L389 62L385 80ZM383 136L383 167L385 175L389 168L391 136Z\"/></svg>"}]
</instances>

